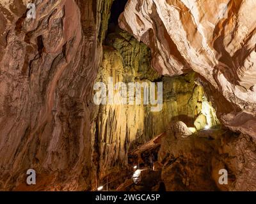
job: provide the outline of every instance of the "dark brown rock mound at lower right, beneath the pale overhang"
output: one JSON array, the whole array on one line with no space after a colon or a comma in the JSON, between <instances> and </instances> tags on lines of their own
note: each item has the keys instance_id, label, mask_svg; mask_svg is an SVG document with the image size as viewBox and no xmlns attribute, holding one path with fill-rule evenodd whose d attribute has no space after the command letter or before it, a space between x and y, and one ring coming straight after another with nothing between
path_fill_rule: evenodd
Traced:
<instances>
[{"instance_id":1,"label":"dark brown rock mound at lower right, beneath the pale overhang","mask_svg":"<svg viewBox=\"0 0 256 204\"><path fill-rule=\"evenodd\" d=\"M212 129L186 138L168 133L158 152L167 191L255 191L255 140ZM228 171L220 185L219 171Z\"/></svg>"}]
</instances>

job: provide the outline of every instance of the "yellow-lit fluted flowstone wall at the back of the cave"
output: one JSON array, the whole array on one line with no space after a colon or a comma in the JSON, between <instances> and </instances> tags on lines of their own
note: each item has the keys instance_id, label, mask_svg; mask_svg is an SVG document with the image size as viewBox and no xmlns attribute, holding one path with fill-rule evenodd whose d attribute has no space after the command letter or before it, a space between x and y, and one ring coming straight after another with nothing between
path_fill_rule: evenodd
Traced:
<instances>
[{"instance_id":1,"label":"yellow-lit fluted flowstone wall at the back of the cave","mask_svg":"<svg viewBox=\"0 0 256 204\"><path fill-rule=\"evenodd\" d=\"M195 73L184 77L161 77L150 66L150 50L124 31L117 30L106 38L97 82L163 81L163 110L150 112L147 105L100 105L94 113L93 135L99 178L120 164L127 164L127 153L168 128L172 120L182 120L193 127L201 115L204 90L195 84ZM205 116L204 116L205 117ZM205 124L204 124L205 125ZM202 127L204 128L204 127ZM99 161L99 163L98 163Z\"/></svg>"}]
</instances>

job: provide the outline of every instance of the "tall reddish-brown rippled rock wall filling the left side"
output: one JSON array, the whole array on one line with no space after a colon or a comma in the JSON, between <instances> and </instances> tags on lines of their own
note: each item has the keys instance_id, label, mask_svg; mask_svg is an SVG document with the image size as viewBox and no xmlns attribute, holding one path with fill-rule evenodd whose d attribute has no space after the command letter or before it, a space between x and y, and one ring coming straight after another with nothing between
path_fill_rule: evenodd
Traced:
<instances>
[{"instance_id":1,"label":"tall reddish-brown rippled rock wall filling the left side","mask_svg":"<svg viewBox=\"0 0 256 204\"><path fill-rule=\"evenodd\" d=\"M27 2L0 3L0 189L90 189L88 101L111 1L33 2L30 20Z\"/></svg>"}]
</instances>

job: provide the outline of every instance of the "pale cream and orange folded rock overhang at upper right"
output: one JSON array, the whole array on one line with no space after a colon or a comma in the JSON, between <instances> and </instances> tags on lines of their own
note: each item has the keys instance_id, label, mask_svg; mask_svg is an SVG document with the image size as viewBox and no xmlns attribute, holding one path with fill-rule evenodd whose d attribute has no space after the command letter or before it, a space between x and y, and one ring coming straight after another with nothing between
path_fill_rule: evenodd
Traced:
<instances>
[{"instance_id":1,"label":"pale cream and orange folded rock overhang at upper right","mask_svg":"<svg viewBox=\"0 0 256 204\"><path fill-rule=\"evenodd\" d=\"M256 137L256 1L129 0L122 29L152 51L162 75L193 69L219 118Z\"/></svg>"}]
</instances>

